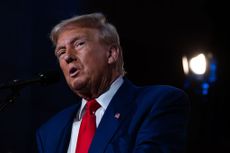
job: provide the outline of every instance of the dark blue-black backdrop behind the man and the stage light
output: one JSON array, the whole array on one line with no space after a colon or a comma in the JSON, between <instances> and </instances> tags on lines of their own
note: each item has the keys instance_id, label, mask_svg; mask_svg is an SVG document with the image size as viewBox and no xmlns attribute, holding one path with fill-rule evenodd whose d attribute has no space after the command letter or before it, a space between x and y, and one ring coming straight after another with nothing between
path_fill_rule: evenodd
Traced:
<instances>
[{"instance_id":1,"label":"dark blue-black backdrop behind the man and the stage light","mask_svg":"<svg viewBox=\"0 0 230 153\"><path fill-rule=\"evenodd\" d=\"M58 69L51 28L76 14L103 12L116 27L127 77L137 85L184 88L181 57L197 50L217 59L217 81L206 97L187 90L191 122L187 153L230 152L229 5L209 0L3 0L0 2L0 83ZM11 91L0 91L4 102ZM21 90L0 112L0 153L35 152L35 130L76 97L64 79Z\"/></svg>"}]
</instances>

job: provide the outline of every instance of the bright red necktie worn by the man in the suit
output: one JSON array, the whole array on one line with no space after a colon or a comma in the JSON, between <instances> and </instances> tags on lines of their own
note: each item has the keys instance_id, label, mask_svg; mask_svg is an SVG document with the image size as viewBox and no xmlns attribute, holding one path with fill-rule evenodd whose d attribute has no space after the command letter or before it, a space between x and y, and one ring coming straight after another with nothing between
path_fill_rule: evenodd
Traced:
<instances>
[{"instance_id":1,"label":"bright red necktie worn by the man in the suit","mask_svg":"<svg viewBox=\"0 0 230 153\"><path fill-rule=\"evenodd\" d=\"M96 110L101 107L100 104L92 99L86 103L85 114L80 125L76 153L88 153L90 144L96 131Z\"/></svg>"}]
</instances>

